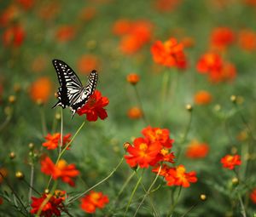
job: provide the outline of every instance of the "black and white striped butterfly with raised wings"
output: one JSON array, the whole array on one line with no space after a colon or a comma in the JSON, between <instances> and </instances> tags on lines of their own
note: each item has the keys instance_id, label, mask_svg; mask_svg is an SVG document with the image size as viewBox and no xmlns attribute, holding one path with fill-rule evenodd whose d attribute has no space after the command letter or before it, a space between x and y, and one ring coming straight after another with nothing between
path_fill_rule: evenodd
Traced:
<instances>
[{"instance_id":1,"label":"black and white striped butterfly with raised wings","mask_svg":"<svg viewBox=\"0 0 256 217\"><path fill-rule=\"evenodd\" d=\"M90 95L94 93L98 74L96 70L91 71L88 81L83 87L79 77L70 66L67 66L67 63L61 60L52 60L52 63L55 66L55 71L57 72L59 83L61 85L58 89L59 100L55 106L61 106L62 108L69 106L73 113L73 117L76 111L84 106L84 104L89 100ZM53 106L53 108L55 106Z\"/></svg>"}]
</instances>

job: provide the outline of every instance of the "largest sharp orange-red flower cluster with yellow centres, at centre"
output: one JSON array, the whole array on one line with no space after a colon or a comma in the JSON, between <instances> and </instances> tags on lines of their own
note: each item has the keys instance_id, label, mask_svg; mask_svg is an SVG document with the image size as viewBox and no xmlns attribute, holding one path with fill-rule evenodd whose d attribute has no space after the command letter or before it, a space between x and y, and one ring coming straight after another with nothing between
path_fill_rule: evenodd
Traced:
<instances>
[{"instance_id":1,"label":"largest sharp orange-red flower cluster with yellow centres, at centre","mask_svg":"<svg viewBox=\"0 0 256 217\"><path fill-rule=\"evenodd\" d=\"M174 163L174 155L171 152L172 142L168 129L143 128L143 137L136 138L132 146L128 146L125 155L126 163L132 168L148 168L160 162Z\"/></svg>"}]
</instances>

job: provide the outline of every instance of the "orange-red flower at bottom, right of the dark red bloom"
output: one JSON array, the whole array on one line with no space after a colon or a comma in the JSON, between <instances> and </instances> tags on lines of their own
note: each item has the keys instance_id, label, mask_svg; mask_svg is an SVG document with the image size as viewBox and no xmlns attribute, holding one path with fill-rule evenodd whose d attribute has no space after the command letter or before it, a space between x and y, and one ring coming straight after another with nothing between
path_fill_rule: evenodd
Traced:
<instances>
[{"instance_id":1,"label":"orange-red flower at bottom, right of the dark red bloom","mask_svg":"<svg viewBox=\"0 0 256 217\"><path fill-rule=\"evenodd\" d=\"M104 208L105 204L108 202L108 196L103 195L102 192L90 191L89 195L85 195L82 198L81 208L86 213L93 214L96 208Z\"/></svg>"}]
</instances>

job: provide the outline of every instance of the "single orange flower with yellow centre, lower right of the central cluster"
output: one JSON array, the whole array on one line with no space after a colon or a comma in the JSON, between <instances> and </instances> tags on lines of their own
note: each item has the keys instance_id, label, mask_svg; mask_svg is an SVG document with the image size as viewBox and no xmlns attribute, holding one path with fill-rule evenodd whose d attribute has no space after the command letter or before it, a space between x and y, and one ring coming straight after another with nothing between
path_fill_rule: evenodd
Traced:
<instances>
[{"instance_id":1,"label":"single orange flower with yellow centre, lower right of the central cluster","mask_svg":"<svg viewBox=\"0 0 256 217\"><path fill-rule=\"evenodd\" d=\"M195 175L195 171L186 173L186 168L183 165L179 165L177 168L170 168L166 175L167 186L189 187L190 182L195 183L197 181Z\"/></svg>"}]
</instances>

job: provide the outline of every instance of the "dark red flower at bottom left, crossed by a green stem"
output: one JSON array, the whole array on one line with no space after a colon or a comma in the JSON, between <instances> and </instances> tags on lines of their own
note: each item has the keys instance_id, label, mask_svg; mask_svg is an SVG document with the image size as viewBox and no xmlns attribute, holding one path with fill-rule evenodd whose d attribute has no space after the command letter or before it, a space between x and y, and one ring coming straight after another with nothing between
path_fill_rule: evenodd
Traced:
<instances>
[{"instance_id":1,"label":"dark red flower at bottom left, crossed by a green stem","mask_svg":"<svg viewBox=\"0 0 256 217\"><path fill-rule=\"evenodd\" d=\"M44 203L44 200L46 198L49 198L49 201L44 205L44 208L42 208L42 212L40 216L44 217L51 217L53 215L55 216L61 216L61 202L63 199L60 197L55 197L50 194L44 194L42 197L32 197L32 209L31 214L37 214L39 208L41 208L41 204Z\"/></svg>"}]
</instances>

